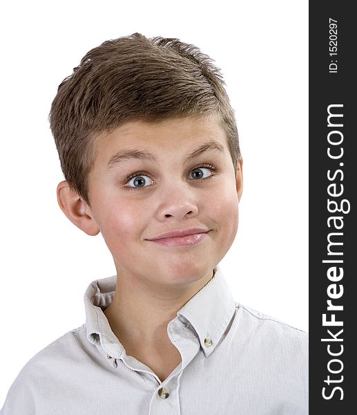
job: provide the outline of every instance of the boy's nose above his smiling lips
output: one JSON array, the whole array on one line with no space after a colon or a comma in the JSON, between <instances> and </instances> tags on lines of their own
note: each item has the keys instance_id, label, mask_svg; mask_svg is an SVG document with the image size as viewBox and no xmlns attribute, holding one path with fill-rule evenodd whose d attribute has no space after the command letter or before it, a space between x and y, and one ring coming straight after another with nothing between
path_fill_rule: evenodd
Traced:
<instances>
[{"instance_id":1,"label":"boy's nose above his smiling lips","mask_svg":"<svg viewBox=\"0 0 357 415\"><path fill-rule=\"evenodd\" d=\"M182 220L185 217L193 218L198 214L197 190L190 187L189 183L171 184L162 186L157 192L157 219L159 221L168 218Z\"/></svg>"}]
</instances>

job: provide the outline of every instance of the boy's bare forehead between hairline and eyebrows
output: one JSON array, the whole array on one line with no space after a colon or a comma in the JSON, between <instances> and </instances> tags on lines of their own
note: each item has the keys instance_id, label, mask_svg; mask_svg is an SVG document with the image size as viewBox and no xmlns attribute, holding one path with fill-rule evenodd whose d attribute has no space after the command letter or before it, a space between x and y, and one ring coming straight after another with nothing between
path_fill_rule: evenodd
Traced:
<instances>
[{"instance_id":1,"label":"boy's bare forehead between hairline and eyebrows","mask_svg":"<svg viewBox=\"0 0 357 415\"><path fill-rule=\"evenodd\" d=\"M226 134L213 117L127 122L109 133L101 133L95 141L96 163L109 165L125 155L135 158L139 154L139 158L158 162L163 154L184 158L193 151L193 156L198 156L206 149L229 153Z\"/></svg>"}]
</instances>

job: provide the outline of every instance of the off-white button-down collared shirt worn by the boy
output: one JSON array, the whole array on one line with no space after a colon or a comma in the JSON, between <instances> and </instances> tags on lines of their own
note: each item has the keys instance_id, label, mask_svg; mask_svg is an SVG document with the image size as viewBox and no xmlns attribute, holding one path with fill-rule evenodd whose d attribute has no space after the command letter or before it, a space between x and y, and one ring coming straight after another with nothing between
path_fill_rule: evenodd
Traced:
<instances>
[{"instance_id":1,"label":"off-white button-down collared shirt worn by the boy","mask_svg":"<svg viewBox=\"0 0 357 415\"><path fill-rule=\"evenodd\" d=\"M116 277L84 295L86 324L35 355L1 415L306 415L308 335L234 301L222 271L168 323L182 362L161 382L104 315Z\"/></svg>"}]
</instances>

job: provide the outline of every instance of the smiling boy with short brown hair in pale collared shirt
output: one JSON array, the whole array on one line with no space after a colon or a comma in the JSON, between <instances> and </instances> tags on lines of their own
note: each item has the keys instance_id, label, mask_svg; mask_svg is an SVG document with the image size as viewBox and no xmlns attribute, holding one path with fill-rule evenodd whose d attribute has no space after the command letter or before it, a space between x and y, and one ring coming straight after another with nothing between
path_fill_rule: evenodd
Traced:
<instances>
[{"instance_id":1,"label":"smiling boy with short brown hair in pale collared shirt","mask_svg":"<svg viewBox=\"0 0 357 415\"><path fill-rule=\"evenodd\" d=\"M50 127L59 206L102 232L117 276L90 284L86 324L28 362L1 415L307 414L307 333L235 303L218 267L242 157L211 59L104 42L60 84Z\"/></svg>"}]
</instances>

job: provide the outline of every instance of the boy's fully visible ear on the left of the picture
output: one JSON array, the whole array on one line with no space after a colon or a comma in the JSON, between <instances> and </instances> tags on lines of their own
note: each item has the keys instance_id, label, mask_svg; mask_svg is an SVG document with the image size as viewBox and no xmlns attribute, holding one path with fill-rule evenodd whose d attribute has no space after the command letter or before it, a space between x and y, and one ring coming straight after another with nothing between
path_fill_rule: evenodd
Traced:
<instances>
[{"instance_id":1,"label":"boy's fully visible ear on the left of the picture","mask_svg":"<svg viewBox=\"0 0 357 415\"><path fill-rule=\"evenodd\" d=\"M91 236L99 233L98 225L88 204L75 190L70 188L68 181L61 181L57 186L57 201L59 208L79 229Z\"/></svg>"}]
</instances>

